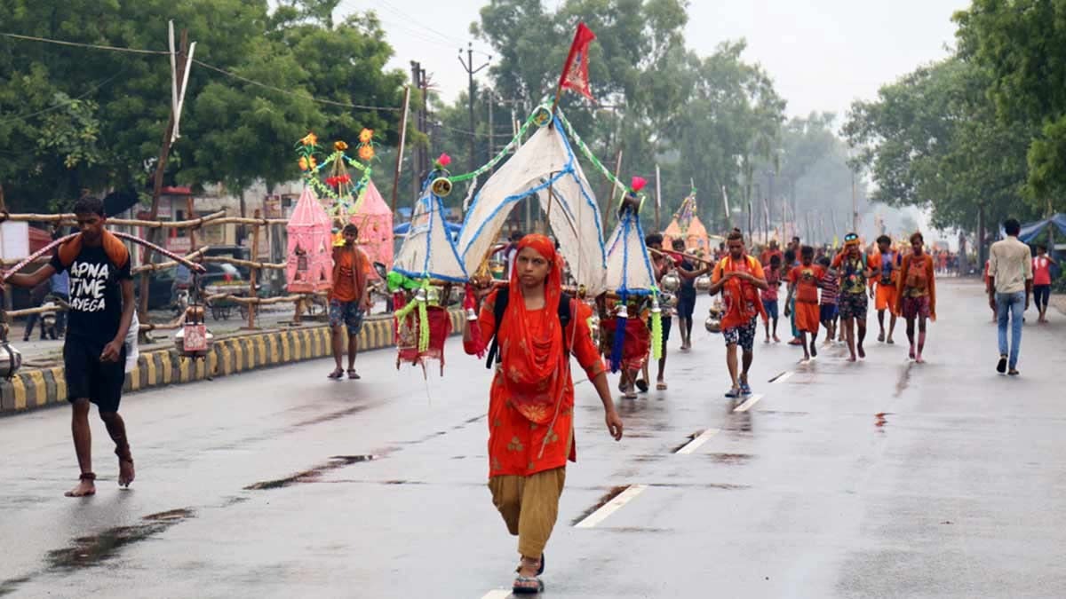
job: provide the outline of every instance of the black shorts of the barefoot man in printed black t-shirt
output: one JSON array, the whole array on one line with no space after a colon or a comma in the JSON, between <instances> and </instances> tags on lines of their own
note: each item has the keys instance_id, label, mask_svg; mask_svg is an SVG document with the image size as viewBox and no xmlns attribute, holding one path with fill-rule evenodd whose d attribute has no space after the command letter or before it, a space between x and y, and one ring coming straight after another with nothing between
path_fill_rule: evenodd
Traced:
<instances>
[{"instance_id":1,"label":"black shorts of the barefoot man in printed black t-shirt","mask_svg":"<svg viewBox=\"0 0 1066 599\"><path fill-rule=\"evenodd\" d=\"M101 362L103 343L68 336L63 344L63 371L67 383L67 401L88 400L102 412L118 411L126 383L126 346L118 361Z\"/></svg>"}]
</instances>

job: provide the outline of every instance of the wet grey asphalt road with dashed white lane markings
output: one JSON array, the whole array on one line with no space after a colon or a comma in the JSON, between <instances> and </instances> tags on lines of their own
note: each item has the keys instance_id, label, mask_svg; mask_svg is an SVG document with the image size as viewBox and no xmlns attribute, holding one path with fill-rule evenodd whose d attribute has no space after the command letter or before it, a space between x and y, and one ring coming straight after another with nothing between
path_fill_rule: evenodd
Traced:
<instances>
[{"instance_id":1,"label":"wet grey asphalt road with dashed white lane markings","mask_svg":"<svg viewBox=\"0 0 1066 599\"><path fill-rule=\"evenodd\" d=\"M925 365L872 341L862 363L836 346L800 366L760 333L761 399L741 411L701 300L671 389L619 402L620 443L579 384L546 596L1066 596L1066 317L1025 327L1008 379L980 285L941 284L940 305ZM361 382L320 360L132 395L136 482L116 488L94 422L84 500L62 497L65 408L0 420L0 596L506 597L489 374L458 339L448 357L429 384L385 351L359 358Z\"/></svg>"}]
</instances>

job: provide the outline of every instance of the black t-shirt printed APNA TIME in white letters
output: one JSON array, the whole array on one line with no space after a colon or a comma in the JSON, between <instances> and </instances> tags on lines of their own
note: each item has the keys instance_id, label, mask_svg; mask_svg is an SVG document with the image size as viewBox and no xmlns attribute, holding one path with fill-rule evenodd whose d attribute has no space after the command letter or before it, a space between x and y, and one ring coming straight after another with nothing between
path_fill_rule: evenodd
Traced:
<instances>
[{"instance_id":1,"label":"black t-shirt printed APNA TIME in white letters","mask_svg":"<svg viewBox=\"0 0 1066 599\"><path fill-rule=\"evenodd\" d=\"M129 260L123 268L115 266L103 247L83 246L69 268L60 257L51 261L55 272L70 273L70 310L67 317L67 335L109 343L118 334L123 318L123 291L119 281L133 278Z\"/></svg>"}]
</instances>

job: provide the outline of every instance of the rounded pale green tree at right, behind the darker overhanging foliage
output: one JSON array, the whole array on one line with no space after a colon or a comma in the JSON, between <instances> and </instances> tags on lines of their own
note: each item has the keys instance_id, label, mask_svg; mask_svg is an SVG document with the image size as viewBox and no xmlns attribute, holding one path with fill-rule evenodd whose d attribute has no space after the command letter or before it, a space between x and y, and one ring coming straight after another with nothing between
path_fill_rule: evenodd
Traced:
<instances>
[{"instance_id":1,"label":"rounded pale green tree at right, behind the darker overhanging foliage","mask_svg":"<svg viewBox=\"0 0 1066 599\"><path fill-rule=\"evenodd\" d=\"M844 133L870 168L875 201L930 207L937 228L1029 215L1018 199L1031 129L997 118L988 84L981 67L949 59L852 106Z\"/></svg>"}]
</instances>

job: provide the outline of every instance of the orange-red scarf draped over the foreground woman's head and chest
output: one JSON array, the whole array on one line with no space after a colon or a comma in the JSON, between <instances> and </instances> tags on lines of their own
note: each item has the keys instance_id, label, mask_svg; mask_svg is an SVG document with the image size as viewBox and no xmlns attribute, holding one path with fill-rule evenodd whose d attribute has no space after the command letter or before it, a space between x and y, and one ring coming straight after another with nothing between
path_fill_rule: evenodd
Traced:
<instances>
[{"instance_id":1,"label":"orange-red scarf draped over the foreground woman's head and chest","mask_svg":"<svg viewBox=\"0 0 1066 599\"><path fill-rule=\"evenodd\" d=\"M545 282L544 309L527 310L518 269L511 270L510 301L497 326L504 385L512 404L531 422L547 424L555 416L566 385L568 360L563 352L559 303L563 295L563 261L555 244L542 234L529 234L517 252L531 247L551 262ZM533 325L533 326L531 326Z\"/></svg>"}]
</instances>

